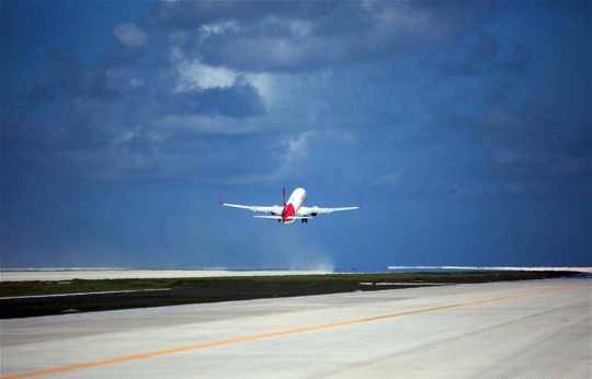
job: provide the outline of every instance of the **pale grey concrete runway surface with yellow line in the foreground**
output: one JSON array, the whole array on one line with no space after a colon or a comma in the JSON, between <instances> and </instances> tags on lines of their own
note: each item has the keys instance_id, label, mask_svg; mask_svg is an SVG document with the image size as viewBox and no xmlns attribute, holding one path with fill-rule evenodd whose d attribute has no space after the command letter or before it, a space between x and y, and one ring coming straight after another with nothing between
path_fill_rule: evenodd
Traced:
<instances>
[{"instance_id":1,"label":"pale grey concrete runway surface with yellow line in the foreground","mask_svg":"<svg viewBox=\"0 0 592 379\"><path fill-rule=\"evenodd\" d=\"M592 377L592 280L2 320L2 378Z\"/></svg>"}]
</instances>

